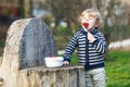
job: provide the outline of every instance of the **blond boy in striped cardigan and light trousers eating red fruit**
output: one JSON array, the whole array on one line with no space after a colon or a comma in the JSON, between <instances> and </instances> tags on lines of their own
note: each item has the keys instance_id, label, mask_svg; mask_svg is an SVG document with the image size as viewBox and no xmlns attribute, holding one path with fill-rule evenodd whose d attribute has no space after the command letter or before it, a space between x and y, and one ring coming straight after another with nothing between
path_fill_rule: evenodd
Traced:
<instances>
[{"instance_id":1,"label":"blond boy in striped cardigan and light trousers eating red fruit","mask_svg":"<svg viewBox=\"0 0 130 87\"><path fill-rule=\"evenodd\" d=\"M106 87L104 53L106 41L99 30L102 16L96 9L87 9L81 13L82 28L69 40L64 54L64 65L68 65L75 48L78 48L78 63L84 65L86 87Z\"/></svg>"}]
</instances>

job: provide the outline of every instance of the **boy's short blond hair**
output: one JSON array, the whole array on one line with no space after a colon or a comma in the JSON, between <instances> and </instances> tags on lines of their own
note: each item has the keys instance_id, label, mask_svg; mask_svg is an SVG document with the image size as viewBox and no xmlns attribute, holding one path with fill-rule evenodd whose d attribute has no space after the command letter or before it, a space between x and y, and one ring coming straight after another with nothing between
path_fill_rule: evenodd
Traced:
<instances>
[{"instance_id":1,"label":"boy's short blond hair","mask_svg":"<svg viewBox=\"0 0 130 87\"><path fill-rule=\"evenodd\" d=\"M103 24L103 20L102 20L102 16L101 16L101 13L99 12L98 9L95 8L91 8L91 9L87 9L84 10L81 15L80 15L80 20L87 14L89 13L89 16L92 16L96 20L95 22L95 27L101 27L102 24Z\"/></svg>"}]
</instances>

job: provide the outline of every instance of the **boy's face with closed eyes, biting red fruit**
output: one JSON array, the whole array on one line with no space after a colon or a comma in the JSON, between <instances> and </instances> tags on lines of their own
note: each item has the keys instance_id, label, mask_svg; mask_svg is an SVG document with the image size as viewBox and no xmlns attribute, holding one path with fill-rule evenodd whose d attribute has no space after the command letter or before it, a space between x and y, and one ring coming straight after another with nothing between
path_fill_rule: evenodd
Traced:
<instances>
[{"instance_id":1,"label":"boy's face with closed eyes, biting red fruit","mask_svg":"<svg viewBox=\"0 0 130 87\"><path fill-rule=\"evenodd\" d=\"M94 15L92 15L92 14L90 14L90 13L84 14L84 15L82 16L82 18L81 18L81 24L82 24L82 23L88 23L88 24L89 24L89 26L86 27L87 30L90 30L90 29L92 29L93 27L95 27L95 22L96 22L96 16L94 16ZM83 27L83 26L82 26L82 27Z\"/></svg>"}]
</instances>

